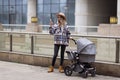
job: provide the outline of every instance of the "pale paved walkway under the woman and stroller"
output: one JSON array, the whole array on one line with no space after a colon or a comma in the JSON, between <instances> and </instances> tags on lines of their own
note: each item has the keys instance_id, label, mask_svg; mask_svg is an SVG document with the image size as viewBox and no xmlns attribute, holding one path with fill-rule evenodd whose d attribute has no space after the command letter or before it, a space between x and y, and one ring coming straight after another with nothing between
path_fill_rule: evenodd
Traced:
<instances>
[{"instance_id":1,"label":"pale paved walkway under the woman and stroller","mask_svg":"<svg viewBox=\"0 0 120 80\"><path fill-rule=\"evenodd\" d=\"M102 75L89 76L87 79L78 74L68 77L57 69L53 73L47 73L47 70L47 67L0 61L0 80L120 80L117 77Z\"/></svg>"}]
</instances>

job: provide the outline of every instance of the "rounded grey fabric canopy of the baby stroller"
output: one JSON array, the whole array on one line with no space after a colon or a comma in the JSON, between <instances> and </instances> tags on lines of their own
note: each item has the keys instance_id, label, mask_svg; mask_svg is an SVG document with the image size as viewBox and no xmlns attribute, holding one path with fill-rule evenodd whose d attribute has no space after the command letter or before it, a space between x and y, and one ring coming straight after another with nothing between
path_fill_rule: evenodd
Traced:
<instances>
[{"instance_id":1,"label":"rounded grey fabric canopy of the baby stroller","mask_svg":"<svg viewBox=\"0 0 120 80\"><path fill-rule=\"evenodd\" d=\"M93 42L86 38L80 38L76 41L77 43L77 52L79 54L96 54L96 47Z\"/></svg>"}]
</instances>

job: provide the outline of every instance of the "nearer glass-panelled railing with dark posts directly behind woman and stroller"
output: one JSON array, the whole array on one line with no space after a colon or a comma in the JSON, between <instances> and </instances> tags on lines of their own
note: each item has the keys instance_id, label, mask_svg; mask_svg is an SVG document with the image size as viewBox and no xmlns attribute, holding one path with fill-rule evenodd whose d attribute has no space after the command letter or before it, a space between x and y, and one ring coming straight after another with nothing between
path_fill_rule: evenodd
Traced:
<instances>
[{"instance_id":1,"label":"nearer glass-panelled railing with dark posts directly behind woman and stroller","mask_svg":"<svg viewBox=\"0 0 120 80\"><path fill-rule=\"evenodd\" d=\"M24 54L53 55L53 36L48 33L5 32L0 31L0 51L19 52ZM71 35L75 40L87 38L95 43L96 60L119 63L120 37L100 35ZM69 50L75 50L76 45L70 41ZM65 54L65 57L67 55Z\"/></svg>"}]
</instances>

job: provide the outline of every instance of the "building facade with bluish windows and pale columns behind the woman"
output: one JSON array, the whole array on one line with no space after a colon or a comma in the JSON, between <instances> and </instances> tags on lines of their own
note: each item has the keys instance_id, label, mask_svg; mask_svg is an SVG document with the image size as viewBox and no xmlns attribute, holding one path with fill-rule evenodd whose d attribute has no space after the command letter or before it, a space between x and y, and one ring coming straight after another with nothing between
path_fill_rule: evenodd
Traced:
<instances>
[{"instance_id":1,"label":"building facade with bluish windows and pale columns behind the woman","mask_svg":"<svg viewBox=\"0 0 120 80\"><path fill-rule=\"evenodd\" d=\"M111 16L120 23L119 0L0 0L0 22L2 24L27 24L31 17L38 23L49 25L56 22L56 13L65 13L68 25L97 26L109 23Z\"/></svg>"}]
</instances>

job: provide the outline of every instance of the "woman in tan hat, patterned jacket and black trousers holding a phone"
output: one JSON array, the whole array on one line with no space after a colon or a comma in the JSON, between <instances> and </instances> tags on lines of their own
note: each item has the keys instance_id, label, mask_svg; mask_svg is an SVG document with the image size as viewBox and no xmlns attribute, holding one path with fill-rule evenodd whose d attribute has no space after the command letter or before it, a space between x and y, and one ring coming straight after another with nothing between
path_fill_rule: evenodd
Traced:
<instances>
[{"instance_id":1,"label":"woman in tan hat, patterned jacket and black trousers holding a phone","mask_svg":"<svg viewBox=\"0 0 120 80\"><path fill-rule=\"evenodd\" d=\"M50 66L48 73L54 71L54 65L60 47L61 47L61 58L60 58L59 72L61 73L64 72L63 70L64 52L66 46L68 45L69 37L70 37L70 32L66 24L67 22L64 13L61 12L58 13L57 20L58 20L58 24L56 25L53 25L53 22L50 21L49 33L54 35L54 56L52 59L52 65Z\"/></svg>"}]
</instances>

